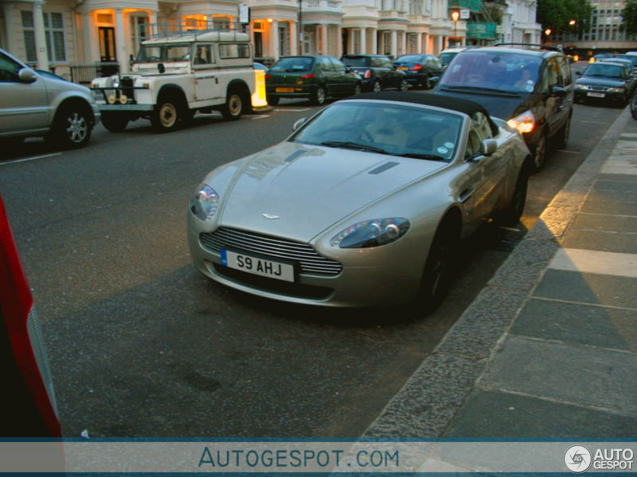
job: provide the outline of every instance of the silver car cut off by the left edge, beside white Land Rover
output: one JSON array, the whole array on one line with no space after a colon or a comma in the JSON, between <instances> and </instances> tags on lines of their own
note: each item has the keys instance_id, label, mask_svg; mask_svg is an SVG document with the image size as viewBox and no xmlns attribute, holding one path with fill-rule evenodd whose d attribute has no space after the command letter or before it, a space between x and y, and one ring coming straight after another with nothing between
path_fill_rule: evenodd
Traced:
<instances>
[{"instance_id":1,"label":"silver car cut off by the left edge, beside white Land Rover","mask_svg":"<svg viewBox=\"0 0 637 477\"><path fill-rule=\"evenodd\" d=\"M63 148L82 148L99 122L89 88L36 73L0 49L0 139L45 137Z\"/></svg>"}]
</instances>

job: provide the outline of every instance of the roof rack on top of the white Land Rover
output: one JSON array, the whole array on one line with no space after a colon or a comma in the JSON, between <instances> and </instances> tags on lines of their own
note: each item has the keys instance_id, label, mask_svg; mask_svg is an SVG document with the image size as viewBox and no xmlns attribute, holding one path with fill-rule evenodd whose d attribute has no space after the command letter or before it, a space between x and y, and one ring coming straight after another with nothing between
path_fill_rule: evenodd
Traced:
<instances>
[{"instance_id":1,"label":"roof rack on top of the white Land Rover","mask_svg":"<svg viewBox=\"0 0 637 477\"><path fill-rule=\"evenodd\" d=\"M242 25L240 28L230 28L229 26L219 25L213 20L183 20L182 22L151 23L145 26L147 27L147 34L141 37L142 41L149 39L178 39L185 36L192 36L196 41L203 34L206 34L206 39L214 40L215 33L217 40L236 40L237 34L250 33L248 25ZM221 36L222 34L225 34L225 38ZM234 38L228 38L233 36Z\"/></svg>"}]
</instances>

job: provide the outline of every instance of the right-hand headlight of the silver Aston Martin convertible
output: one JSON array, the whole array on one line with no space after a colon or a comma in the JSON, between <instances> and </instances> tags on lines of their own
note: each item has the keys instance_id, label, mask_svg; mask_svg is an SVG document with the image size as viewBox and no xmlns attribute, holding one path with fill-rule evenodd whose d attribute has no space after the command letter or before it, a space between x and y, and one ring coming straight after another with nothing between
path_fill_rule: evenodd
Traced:
<instances>
[{"instance_id":1,"label":"right-hand headlight of the silver Aston Martin convertible","mask_svg":"<svg viewBox=\"0 0 637 477\"><path fill-rule=\"evenodd\" d=\"M411 225L410 221L400 217L364 220L343 230L329 244L341 249L387 245L403 237Z\"/></svg>"}]
</instances>

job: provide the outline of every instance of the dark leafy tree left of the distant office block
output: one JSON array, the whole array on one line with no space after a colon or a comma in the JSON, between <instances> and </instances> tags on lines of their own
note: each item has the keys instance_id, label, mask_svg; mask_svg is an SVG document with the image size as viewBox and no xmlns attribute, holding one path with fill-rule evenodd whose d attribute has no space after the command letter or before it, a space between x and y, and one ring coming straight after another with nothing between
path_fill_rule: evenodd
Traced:
<instances>
[{"instance_id":1,"label":"dark leafy tree left of the distant office block","mask_svg":"<svg viewBox=\"0 0 637 477\"><path fill-rule=\"evenodd\" d=\"M537 21L552 34L581 33L589 31L592 11L589 0L539 0ZM571 20L575 25L569 24Z\"/></svg>"}]
</instances>

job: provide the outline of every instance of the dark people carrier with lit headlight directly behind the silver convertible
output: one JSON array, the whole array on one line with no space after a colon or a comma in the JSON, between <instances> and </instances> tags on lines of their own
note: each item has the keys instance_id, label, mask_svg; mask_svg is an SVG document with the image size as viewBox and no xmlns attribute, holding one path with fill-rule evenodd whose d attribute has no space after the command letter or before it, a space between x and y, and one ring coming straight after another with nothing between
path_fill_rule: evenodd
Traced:
<instances>
[{"instance_id":1,"label":"dark people carrier with lit headlight directly behind the silver convertible","mask_svg":"<svg viewBox=\"0 0 637 477\"><path fill-rule=\"evenodd\" d=\"M568 58L547 45L500 44L460 52L435 93L482 104L517 128L540 170L549 139L558 149L568 142L573 114L573 79Z\"/></svg>"}]
</instances>

